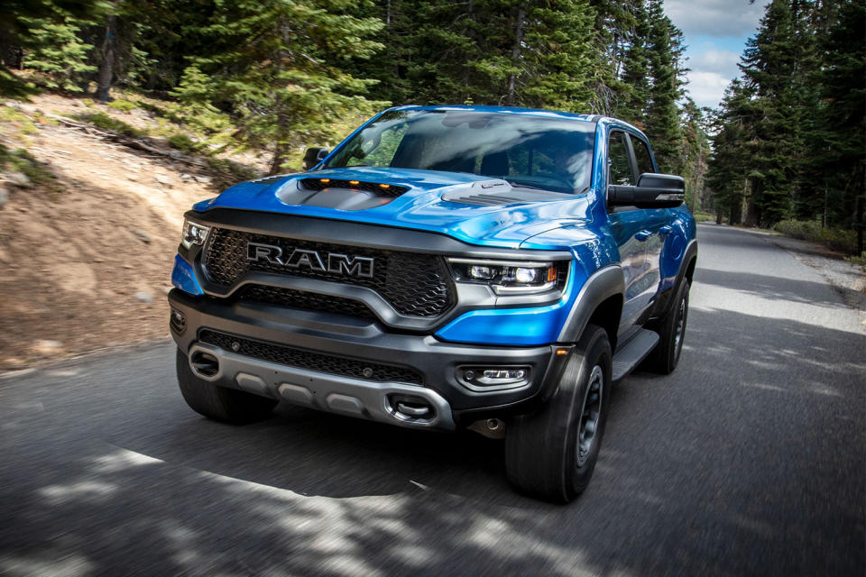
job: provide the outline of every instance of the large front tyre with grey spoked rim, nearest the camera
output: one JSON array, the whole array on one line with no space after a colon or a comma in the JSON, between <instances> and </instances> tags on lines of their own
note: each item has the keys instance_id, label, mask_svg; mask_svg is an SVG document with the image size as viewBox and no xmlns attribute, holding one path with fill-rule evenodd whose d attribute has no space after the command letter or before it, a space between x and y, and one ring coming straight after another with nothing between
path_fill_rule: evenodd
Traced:
<instances>
[{"instance_id":1,"label":"large front tyre with grey spoked rim, nearest the camera","mask_svg":"<svg viewBox=\"0 0 866 577\"><path fill-rule=\"evenodd\" d=\"M567 503L589 485L607 420L611 359L607 333L588 325L553 397L511 421L505 468L519 490Z\"/></svg>"}]
</instances>

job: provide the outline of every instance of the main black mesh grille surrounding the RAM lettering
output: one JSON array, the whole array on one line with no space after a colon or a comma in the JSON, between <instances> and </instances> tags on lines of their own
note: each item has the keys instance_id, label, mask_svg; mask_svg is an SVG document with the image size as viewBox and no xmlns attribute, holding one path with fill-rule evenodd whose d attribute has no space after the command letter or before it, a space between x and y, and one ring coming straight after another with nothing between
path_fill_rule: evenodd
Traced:
<instances>
[{"instance_id":1,"label":"main black mesh grille surrounding the RAM lettering","mask_svg":"<svg viewBox=\"0 0 866 577\"><path fill-rule=\"evenodd\" d=\"M373 278L332 274L311 270L309 267L292 269L266 260L250 261L247 259L248 242L279 246L284 255L290 255L294 249L302 249L316 251L325 260L329 252L372 258ZM207 276L225 287L235 285L250 270L367 287L379 293L398 312L408 316L438 316L454 304L445 263L440 257L429 254L311 243L267 234L244 233L229 228L214 228L207 246L206 265Z\"/></svg>"}]
</instances>

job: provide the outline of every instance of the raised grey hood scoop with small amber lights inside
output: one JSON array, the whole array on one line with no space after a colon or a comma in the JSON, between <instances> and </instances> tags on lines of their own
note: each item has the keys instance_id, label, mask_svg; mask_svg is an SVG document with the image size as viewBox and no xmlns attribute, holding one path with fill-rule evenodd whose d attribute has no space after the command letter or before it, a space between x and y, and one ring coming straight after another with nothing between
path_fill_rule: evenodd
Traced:
<instances>
[{"instance_id":1,"label":"raised grey hood scoop with small amber lights inside","mask_svg":"<svg viewBox=\"0 0 866 577\"><path fill-rule=\"evenodd\" d=\"M287 205L364 210L390 203L409 187L349 179L299 179L277 192Z\"/></svg>"}]
</instances>

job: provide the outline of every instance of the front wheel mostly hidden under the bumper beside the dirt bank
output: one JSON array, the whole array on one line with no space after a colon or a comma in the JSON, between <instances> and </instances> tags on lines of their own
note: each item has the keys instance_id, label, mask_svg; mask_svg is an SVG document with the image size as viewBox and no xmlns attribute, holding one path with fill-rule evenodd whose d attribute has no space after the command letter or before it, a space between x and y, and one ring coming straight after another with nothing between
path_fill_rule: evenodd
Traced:
<instances>
[{"instance_id":1,"label":"front wheel mostly hidden under the bumper beside the dirt bank","mask_svg":"<svg viewBox=\"0 0 866 577\"><path fill-rule=\"evenodd\" d=\"M180 394L187 401L189 408L200 415L243 425L267 417L277 406L272 398L259 397L243 390L218 387L212 382L200 379L189 368L187 355L178 349L177 355L178 384Z\"/></svg>"}]
</instances>

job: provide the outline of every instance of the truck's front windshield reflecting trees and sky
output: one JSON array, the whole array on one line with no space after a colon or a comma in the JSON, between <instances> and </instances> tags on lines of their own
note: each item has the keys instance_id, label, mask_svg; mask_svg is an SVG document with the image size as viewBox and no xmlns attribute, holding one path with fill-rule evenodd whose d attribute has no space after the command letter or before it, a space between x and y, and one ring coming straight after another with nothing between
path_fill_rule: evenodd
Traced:
<instances>
[{"instance_id":1,"label":"truck's front windshield reflecting trees and sky","mask_svg":"<svg viewBox=\"0 0 866 577\"><path fill-rule=\"evenodd\" d=\"M468 172L581 193L592 176L594 134L591 123L530 114L392 110L355 134L326 166Z\"/></svg>"}]
</instances>

